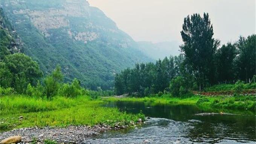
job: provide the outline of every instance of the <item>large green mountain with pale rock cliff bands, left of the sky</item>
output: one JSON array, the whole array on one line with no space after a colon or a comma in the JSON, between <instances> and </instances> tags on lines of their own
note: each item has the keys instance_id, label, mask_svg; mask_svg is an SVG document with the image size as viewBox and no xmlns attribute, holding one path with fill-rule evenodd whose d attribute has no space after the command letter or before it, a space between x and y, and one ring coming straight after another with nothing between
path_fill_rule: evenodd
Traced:
<instances>
[{"instance_id":1,"label":"large green mountain with pale rock cliff bands, left of the sky","mask_svg":"<svg viewBox=\"0 0 256 144\"><path fill-rule=\"evenodd\" d=\"M24 42L24 53L44 75L59 64L66 81L76 77L89 88L107 89L115 73L152 60L85 0L1 0L1 6Z\"/></svg>"}]
</instances>

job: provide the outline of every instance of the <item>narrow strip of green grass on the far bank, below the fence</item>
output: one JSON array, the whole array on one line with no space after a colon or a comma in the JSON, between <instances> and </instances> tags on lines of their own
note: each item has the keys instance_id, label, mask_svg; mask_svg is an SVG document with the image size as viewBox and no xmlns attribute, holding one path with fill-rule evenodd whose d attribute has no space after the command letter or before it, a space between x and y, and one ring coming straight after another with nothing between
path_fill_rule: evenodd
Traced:
<instances>
[{"instance_id":1,"label":"narrow strip of green grass on the far bank, below the fence","mask_svg":"<svg viewBox=\"0 0 256 144\"><path fill-rule=\"evenodd\" d=\"M164 94L161 97L151 95L151 97L110 97L108 101L136 101L156 104L176 104L176 105L197 105L204 109L228 109L239 111L250 111L255 114L256 96L255 95L236 95L236 96L215 96L207 97L203 95L184 95L183 97L172 97L171 94Z\"/></svg>"}]
</instances>

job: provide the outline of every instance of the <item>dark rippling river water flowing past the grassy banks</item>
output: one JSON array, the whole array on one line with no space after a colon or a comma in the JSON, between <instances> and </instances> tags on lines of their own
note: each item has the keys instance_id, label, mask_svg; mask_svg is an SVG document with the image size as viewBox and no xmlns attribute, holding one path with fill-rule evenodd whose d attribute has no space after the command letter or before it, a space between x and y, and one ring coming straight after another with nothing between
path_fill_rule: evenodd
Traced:
<instances>
[{"instance_id":1,"label":"dark rippling river water flowing past the grassy banks","mask_svg":"<svg viewBox=\"0 0 256 144\"><path fill-rule=\"evenodd\" d=\"M89 144L256 144L255 115L211 114L194 105L149 105L143 102L109 102L128 113L146 115L135 129L102 133ZM243 113L244 114L244 113Z\"/></svg>"}]
</instances>

